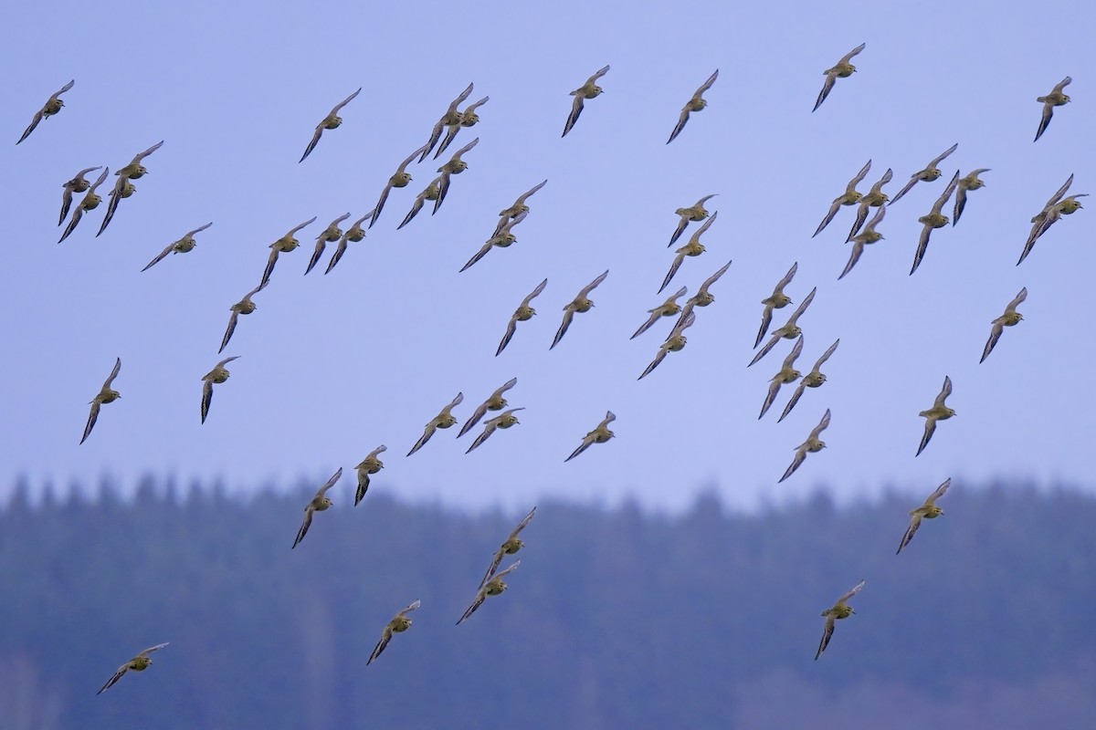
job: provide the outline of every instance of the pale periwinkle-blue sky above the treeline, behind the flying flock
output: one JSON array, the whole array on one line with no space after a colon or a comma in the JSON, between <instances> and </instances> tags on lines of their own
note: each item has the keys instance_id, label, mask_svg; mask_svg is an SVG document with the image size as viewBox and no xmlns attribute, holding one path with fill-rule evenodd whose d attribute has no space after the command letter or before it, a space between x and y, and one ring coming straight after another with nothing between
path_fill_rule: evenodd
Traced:
<instances>
[{"instance_id":1,"label":"pale periwinkle-blue sky above the treeline, behind the flying flock","mask_svg":"<svg viewBox=\"0 0 1096 730\"><path fill-rule=\"evenodd\" d=\"M0 476L64 485L111 474L132 484L152 472L246 489L322 480L339 465L352 472L386 443L376 485L468 507L551 493L609 502L631 494L677 508L704 485L750 507L818 484L847 498L886 485L927 494L947 476L1084 482L1096 426L1093 213L1063 219L1015 266L1029 218L1070 173L1071 193L1096 181L1085 137L1093 11L1051 4L1032 16L992 2L841 13L707 2L687 14L631 2L195 2L73 7L59 18L23 3L9 19L18 33L0 48L9 69ZM864 42L858 72L811 114L822 71ZM560 139L568 92L606 63L605 93ZM682 104L717 68L708 107L666 146ZM1066 74L1074 101L1032 143L1035 97ZM15 147L35 109L73 78L62 112ZM439 162L412 165L414 181L393 190L339 267L324 276L324 257L302 277L322 227L369 210L469 81L470 101L491 100L452 148L481 140L438 213L395 230ZM317 121L358 86L343 126L298 164ZM116 170L161 139L106 232L94 237L104 205L56 245L61 183L90 165ZM810 236L849 177L871 159L866 189L892 167L893 196L954 142L945 178L894 205L880 225L886 240L838 282L853 209ZM986 187L971 194L958 227L934 232L909 276L917 217L956 169L974 167L992 169ZM545 178L518 242L458 274L498 211ZM720 216L708 252L687 259L669 289L693 293L733 264L688 346L637 382L670 327L628 339L669 293L655 292L673 257L673 211L709 193ZM199 425L199 379L219 359L229 305L258 282L267 245L312 216L301 248L282 257L258 311L240 320L225 355L241 358ZM207 221L194 252L140 271ZM800 369L837 337L841 347L824 386L777 424L786 386L758 422L790 347L746 369L758 302L792 262L788 294L798 302L818 287L800 321ZM606 268L594 310L549 352L563 304ZM511 312L545 277L538 315L494 357ZM991 320L1021 287L1024 322L979 364ZM78 445L88 401L116 356L123 397ZM945 374L959 415L915 459L917 412ZM454 442L456 428L403 456L458 391L463 422L515 375L520 426L467 456L472 434ZM829 448L777 486L826 408ZM617 438L564 464L606 409L617 414ZM336 501L350 501L351 482Z\"/></svg>"}]
</instances>

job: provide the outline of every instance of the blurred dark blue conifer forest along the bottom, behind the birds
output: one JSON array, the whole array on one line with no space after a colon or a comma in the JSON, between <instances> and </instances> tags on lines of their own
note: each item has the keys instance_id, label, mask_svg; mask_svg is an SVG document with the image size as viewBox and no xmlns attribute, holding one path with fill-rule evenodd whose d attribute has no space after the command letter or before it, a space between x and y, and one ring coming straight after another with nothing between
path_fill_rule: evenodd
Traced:
<instances>
[{"instance_id":1,"label":"blurred dark blue conifer forest along the bottom, behind the birds","mask_svg":"<svg viewBox=\"0 0 1096 730\"><path fill-rule=\"evenodd\" d=\"M901 555L923 496L739 514L705 494L677 517L544 499L509 590L455 626L533 505L470 515L375 483L352 508L344 482L290 551L317 486L243 498L146 479L127 499L30 500L16 485L0 727L1094 727L1092 496L957 480ZM860 578L814 661L821 612Z\"/></svg>"}]
</instances>

